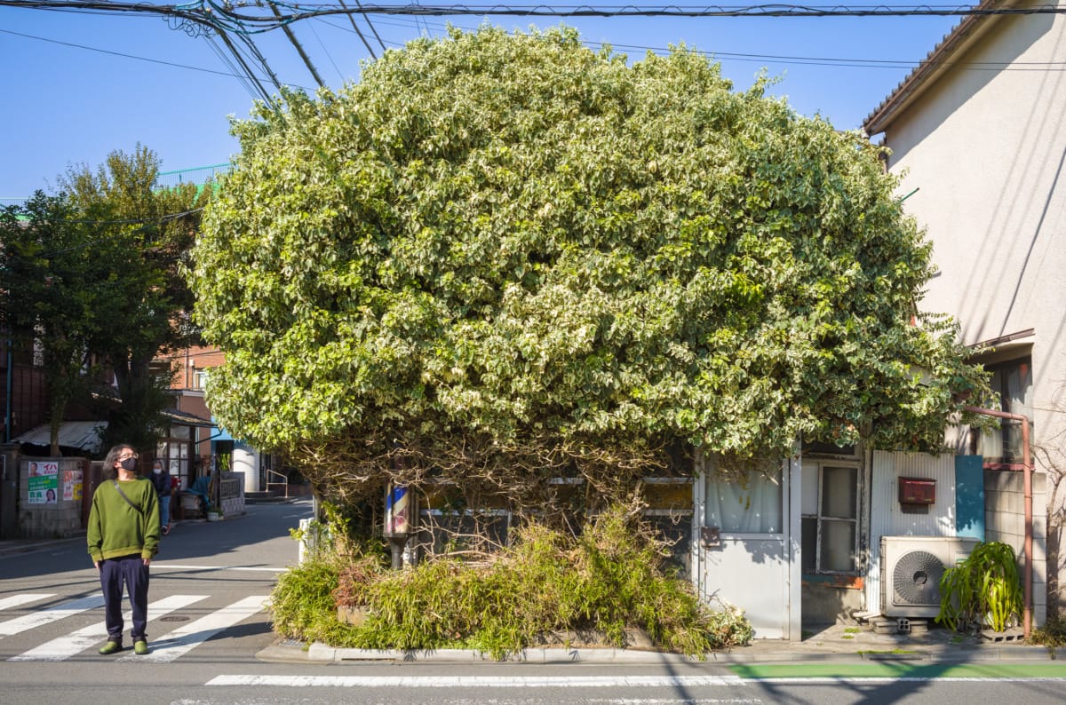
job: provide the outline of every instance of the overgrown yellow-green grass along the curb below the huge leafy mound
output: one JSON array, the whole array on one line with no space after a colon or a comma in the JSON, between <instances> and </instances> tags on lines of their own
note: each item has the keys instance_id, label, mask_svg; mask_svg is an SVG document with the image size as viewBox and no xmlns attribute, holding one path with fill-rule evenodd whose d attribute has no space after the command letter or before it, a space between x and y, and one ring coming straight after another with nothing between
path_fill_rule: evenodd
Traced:
<instances>
[{"instance_id":1,"label":"overgrown yellow-green grass along the curb below the huge leafy mound","mask_svg":"<svg viewBox=\"0 0 1066 705\"><path fill-rule=\"evenodd\" d=\"M334 646L468 647L498 659L560 633L595 633L625 647L640 629L659 649L697 657L752 639L743 613L700 604L666 569L663 544L633 529L615 510L577 539L527 526L489 561L442 558L403 571L387 570L378 555L319 555L278 580L274 628ZM341 623L338 604L365 608L366 622Z\"/></svg>"}]
</instances>

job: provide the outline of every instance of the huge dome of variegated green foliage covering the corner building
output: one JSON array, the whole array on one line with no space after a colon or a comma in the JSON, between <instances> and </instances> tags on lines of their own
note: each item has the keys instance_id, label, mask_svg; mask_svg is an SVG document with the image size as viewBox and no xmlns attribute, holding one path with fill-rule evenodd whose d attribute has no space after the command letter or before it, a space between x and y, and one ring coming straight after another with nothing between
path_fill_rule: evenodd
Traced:
<instances>
[{"instance_id":1,"label":"huge dome of variegated green foliage covering the corner building","mask_svg":"<svg viewBox=\"0 0 1066 705\"><path fill-rule=\"evenodd\" d=\"M261 106L194 250L212 411L344 496L433 474L512 506L559 474L607 501L678 445L939 447L987 388L912 321L930 245L868 141L764 86L486 28Z\"/></svg>"}]
</instances>

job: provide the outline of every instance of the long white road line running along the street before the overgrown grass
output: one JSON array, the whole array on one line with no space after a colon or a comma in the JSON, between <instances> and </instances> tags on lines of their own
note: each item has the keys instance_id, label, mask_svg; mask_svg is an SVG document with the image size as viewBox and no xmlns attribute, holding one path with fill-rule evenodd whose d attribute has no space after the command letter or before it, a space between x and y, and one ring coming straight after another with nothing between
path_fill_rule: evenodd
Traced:
<instances>
[{"instance_id":1,"label":"long white road line running along the street before the overgrown grass","mask_svg":"<svg viewBox=\"0 0 1066 705\"><path fill-rule=\"evenodd\" d=\"M372 675L219 675L207 686L333 686L340 688L691 688L741 686L750 681L734 675L630 676L372 676Z\"/></svg>"}]
</instances>

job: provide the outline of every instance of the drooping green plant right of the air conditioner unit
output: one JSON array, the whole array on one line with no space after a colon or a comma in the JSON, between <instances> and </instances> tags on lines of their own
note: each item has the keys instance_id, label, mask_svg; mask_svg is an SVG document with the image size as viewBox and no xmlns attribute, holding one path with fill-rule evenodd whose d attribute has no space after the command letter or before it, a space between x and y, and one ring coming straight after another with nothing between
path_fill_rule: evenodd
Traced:
<instances>
[{"instance_id":1,"label":"drooping green plant right of the air conditioner unit","mask_svg":"<svg viewBox=\"0 0 1066 705\"><path fill-rule=\"evenodd\" d=\"M979 543L940 578L937 621L950 629L964 632L976 625L1004 632L1021 623L1022 609L1018 562L1006 543Z\"/></svg>"}]
</instances>

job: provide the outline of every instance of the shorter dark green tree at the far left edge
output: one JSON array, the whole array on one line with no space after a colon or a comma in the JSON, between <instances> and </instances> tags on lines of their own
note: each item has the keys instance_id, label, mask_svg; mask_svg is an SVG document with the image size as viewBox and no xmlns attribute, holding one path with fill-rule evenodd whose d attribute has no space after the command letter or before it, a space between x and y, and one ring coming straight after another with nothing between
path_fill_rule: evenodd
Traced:
<instances>
[{"instance_id":1,"label":"shorter dark green tree at the far left edge","mask_svg":"<svg viewBox=\"0 0 1066 705\"><path fill-rule=\"evenodd\" d=\"M93 341L100 311L114 306L111 269L120 253L75 210L64 194L36 192L0 216L4 327L39 356L48 393L52 455L68 405L97 383Z\"/></svg>"}]
</instances>

